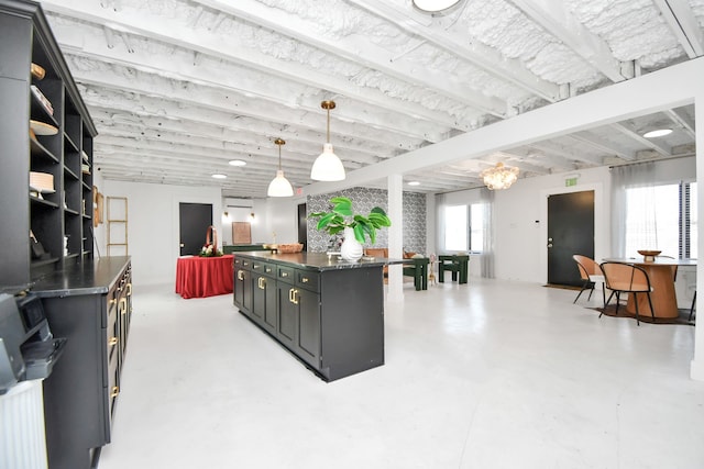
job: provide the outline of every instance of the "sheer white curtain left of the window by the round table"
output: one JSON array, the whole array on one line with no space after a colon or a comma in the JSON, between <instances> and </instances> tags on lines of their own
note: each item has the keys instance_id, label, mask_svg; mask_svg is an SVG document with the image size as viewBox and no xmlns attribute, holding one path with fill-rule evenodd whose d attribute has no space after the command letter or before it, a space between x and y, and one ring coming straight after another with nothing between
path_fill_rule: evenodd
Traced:
<instances>
[{"instance_id":1,"label":"sheer white curtain left of the window by the round table","mask_svg":"<svg viewBox=\"0 0 704 469\"><path fill-rule=\"evenodd\" d=\"M644 233L651 233L652 239L647 239L646 244L657 246L657 224L654 201L656 166L652 163L640 163L628 166L616 166L612 171L612 255L614 257L626 257L626 220L628 217L628 204L626 190L630 188L644 189L632 204L637 208L642 224Z\"/></svg>"}]
</instances>

